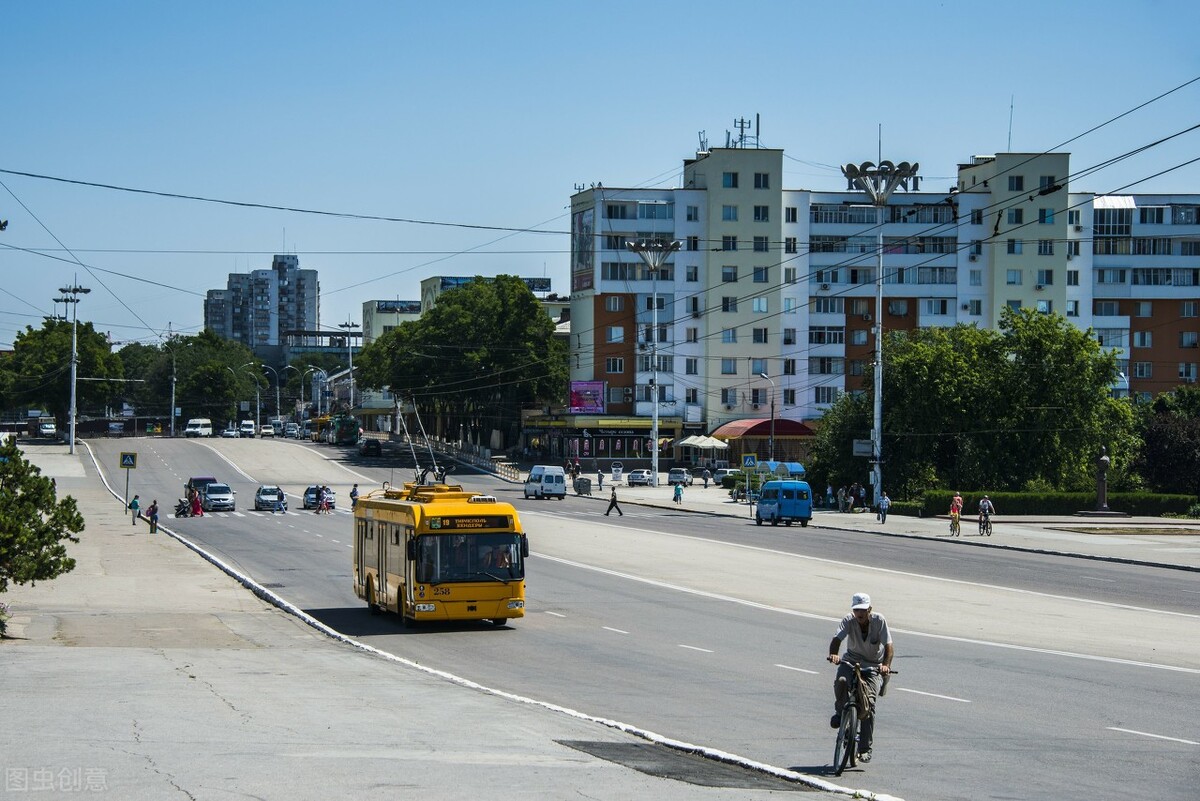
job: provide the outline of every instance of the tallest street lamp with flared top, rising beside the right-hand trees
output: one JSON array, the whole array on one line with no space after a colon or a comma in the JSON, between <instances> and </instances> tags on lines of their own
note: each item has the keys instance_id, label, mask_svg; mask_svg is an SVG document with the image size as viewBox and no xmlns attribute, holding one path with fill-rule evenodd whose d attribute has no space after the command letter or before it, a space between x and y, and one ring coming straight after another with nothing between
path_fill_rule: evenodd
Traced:
<instances>
[{"instance_id":1,"label":"tallest street lamp with flared top, rising beside the right-hand trees","mask_svg":"<svg viewBox=\"0 0 1200 801\"><path fill-rule=\"evenodd\" d=\"M883 207L898 188L907 191L910 181L912 191L917 191L919 167L917 162L894 164L881 159L878 165L863 162L841 168L841 174L846 176L846 188L865 192L875 206L875 424L871 429L871 448L875 457L876 504L883 494Z\"/></svg>"}]
</instances>

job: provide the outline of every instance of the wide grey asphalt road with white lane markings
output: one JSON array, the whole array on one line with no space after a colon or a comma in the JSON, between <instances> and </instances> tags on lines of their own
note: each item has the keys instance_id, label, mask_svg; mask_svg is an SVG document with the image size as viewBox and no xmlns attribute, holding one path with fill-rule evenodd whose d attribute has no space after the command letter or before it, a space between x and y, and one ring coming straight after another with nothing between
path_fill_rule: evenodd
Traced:
<instances>
[{"instance_id":1,"label":"wide grey asphalt road with white lane markings","mask_svg":"<svg viewBox=\"0 0 1200 801\"><path fill-rule=\"evenodd\" d=\"M120 487L118 453L95 444ZM349 580L350 518L247 512L257 483L347 499L402 481L398 459L342 464L287 441L138 442L132 492L168 510L190 475L239 490L235 514L164 523L347 634L481 683L826 776L833 668L851 592L888 616L900 670L876 759L851 783L905 799L1146 795L1200 778L1195 574L847 532L769 529L578 498L512 500L530 532L528 616L402 630ZM979 553L973 553L979 550ZM1190 590L1190 592L1189 592Z\"/></svg>"}]
</instances>

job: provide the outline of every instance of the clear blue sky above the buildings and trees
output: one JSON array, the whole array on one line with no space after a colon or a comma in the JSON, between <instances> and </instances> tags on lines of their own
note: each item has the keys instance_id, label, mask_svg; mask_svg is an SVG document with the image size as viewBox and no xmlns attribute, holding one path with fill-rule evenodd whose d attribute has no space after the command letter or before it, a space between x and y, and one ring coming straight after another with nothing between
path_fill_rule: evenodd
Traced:
<instances>
[{"instance_id":1,"label":"clear blue sky above the buildings and trees","mask_svg":"<svg viewBox=\"0 0 1200 801\"><path fill-rule=\"evenodd\" d=\"M738 118L785 150L786 188L842 188L836 164L874 161L881 125L886 158L949 187L959 162L1009 149L1010 101L1012 150L1067 150L1079 170L1200 122L1195 83L1060 146L1200 76L1198 30L1195 0L11 0L0 169L448 224L0 173L0 347L77 277L80 318L118 342L193 333L204 293L274 253L320 271L326 327L433 275L545 275L568 294L574 187L678 186L697 134L722 145ZM1073 188L1116 189L1198 145ZM1130 191L1200 193L1200 164Z\"/></svg>"}]
</instances>

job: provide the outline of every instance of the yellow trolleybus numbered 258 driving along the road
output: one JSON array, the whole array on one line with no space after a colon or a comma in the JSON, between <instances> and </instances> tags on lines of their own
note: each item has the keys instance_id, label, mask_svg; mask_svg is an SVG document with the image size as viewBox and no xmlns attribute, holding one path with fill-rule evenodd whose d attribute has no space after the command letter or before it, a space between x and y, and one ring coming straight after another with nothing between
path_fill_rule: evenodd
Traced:
<instances>
[{"instance_id":1,"label":"yellow trolleybus numbered 258 driving along the road","mask_svg":"<svg viewBox=\"0 0 1200 801\"><path fill-rule=\"evenodd\" d=\"M511 504L454 484L404 484L354 507L354 592L409 621L524 616L529 541Z\"/></svg>"}]
</instances>

